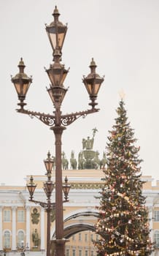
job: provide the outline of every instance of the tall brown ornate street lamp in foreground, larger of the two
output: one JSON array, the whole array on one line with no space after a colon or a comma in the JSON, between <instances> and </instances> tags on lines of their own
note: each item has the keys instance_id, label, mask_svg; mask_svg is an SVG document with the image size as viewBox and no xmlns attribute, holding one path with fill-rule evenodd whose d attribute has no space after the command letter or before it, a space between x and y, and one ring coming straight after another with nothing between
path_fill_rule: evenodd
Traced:
<instances>
[{"instance_id":1,"label":"tall brown ornate street lamp in foreground, larger of the two","mask_svg":"<svg viewBox=\"0 0 159 256\"><path fill-rule=\"evenodd\" d=\"M29 78L28 75L24 73L25 65L23 59L20 59L20 63L18 65L18 74L15 75L15 77L12 77L11 80L12 83L14 83L15 89L18 93L18 99L20 101L18 103L18 106L20 107L17 110L18 113L35 116L44 124L49 126L55 135L55 255L63 256L65 255L66 240L63 238L61 137L63 130L66 129L69 124L77 120L77 118L80 118L80 116L85 117L90 113L98 112L99 109L96 108L96 105L98 104L96 102L96 98L104 78L101 78L98 74L96 74L96 63L92 59L90 62L90 74L87 77L84 76L82 79L82 82L85 84L85 88L87 89L90 97L89 105L91 108L80 112L64 115L62 114L61 104L67 92L67 89L63 86L63 82L67 73L69 72L69 69L65 69L64 65L61 64L62 47L66 37L67 26L63 25L63 23L58 20L59 15L58 9L55 7L53 12L54 20L52 23L50 23L50 25L46 25L47 35L53 48L53 64L50 64L50 67L45 69L51 83L50 88L47 89L47 92L50 95L55 108L53 115L30 111L24 108L26 105L24 100L26 98L28 88L32 83L32 78ZM32 187L32 189L35 189L35 187ZM47 256L49 255L50 252L47 252Z\"/></svg>"}]
</instances>

